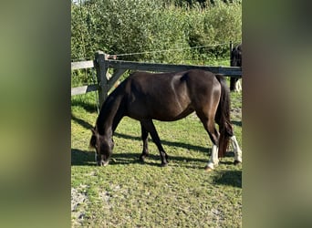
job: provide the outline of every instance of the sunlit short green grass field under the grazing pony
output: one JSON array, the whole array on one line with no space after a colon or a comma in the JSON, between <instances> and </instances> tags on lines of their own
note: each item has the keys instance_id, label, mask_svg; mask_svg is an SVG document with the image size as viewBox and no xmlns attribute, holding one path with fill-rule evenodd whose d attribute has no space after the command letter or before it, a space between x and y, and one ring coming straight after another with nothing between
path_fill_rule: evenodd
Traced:
<instances>
[{"instance_id":1,"label":"sunlit short green grass field under the grazing pony","mask_svg":"<svg viewBox=\"0 0 312 228\"><path fill-rule=\"evenodd\" d=\"M167 167L161 168L151 140L150 156L140 163L140 123L126 117L115 132L109 166L98 167L88 149L98 116L95 98L94 93L72 97L72 227L242 227L242 165L232 164L232 147L215 171L204 171L212 142L192 114L154 121L169 155ZM231 98L242 145L242 94Z\"/></svg>"}]
</instances>

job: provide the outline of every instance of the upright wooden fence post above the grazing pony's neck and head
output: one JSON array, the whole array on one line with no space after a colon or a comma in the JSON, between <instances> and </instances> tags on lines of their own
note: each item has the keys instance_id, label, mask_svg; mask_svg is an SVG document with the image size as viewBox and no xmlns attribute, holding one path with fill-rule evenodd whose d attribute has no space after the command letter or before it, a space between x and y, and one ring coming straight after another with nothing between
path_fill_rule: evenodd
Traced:
<instances>
[{"instance_id":1,"label":"upright wooden fence post above the grazing pony's neck and head","mask_svg":"<svg viewBox=\"0 0 312 228\"><path fill-rule=\"evenodd\" d=\"M102 51L97 51L95 53L94 66L97 69L97 78L99 83L99 108L102 106L109 93L108 78L106 78L108 67L105 62L107 58L107 55Z\"/></svg>"}]
</instances>

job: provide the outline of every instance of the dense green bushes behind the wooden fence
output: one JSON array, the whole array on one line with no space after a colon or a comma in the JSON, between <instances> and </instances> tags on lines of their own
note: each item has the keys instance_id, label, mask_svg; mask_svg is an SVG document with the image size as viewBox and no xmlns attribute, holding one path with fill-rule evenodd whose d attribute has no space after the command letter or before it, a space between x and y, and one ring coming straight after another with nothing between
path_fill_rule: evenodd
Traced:
<instances>
[{"instance_id":1,"label":"dense green bushes behind the wooden fence","mask_svg":"<svg viewBox=\"0 0 312 228\"><path fill-rule=\"evenodd\" d=\"M214 0L214 5L209 7L199 3L176 6L170 1L162 1L72 3L72 60L93 59L95 51L102 50L108 54L143 53L124 55L119 59L182 63L192 59L228 58L229 42L240 42L239 1L224 4ZM169 49L173 51L162 51Z\"/></svg>"}]
</instances>

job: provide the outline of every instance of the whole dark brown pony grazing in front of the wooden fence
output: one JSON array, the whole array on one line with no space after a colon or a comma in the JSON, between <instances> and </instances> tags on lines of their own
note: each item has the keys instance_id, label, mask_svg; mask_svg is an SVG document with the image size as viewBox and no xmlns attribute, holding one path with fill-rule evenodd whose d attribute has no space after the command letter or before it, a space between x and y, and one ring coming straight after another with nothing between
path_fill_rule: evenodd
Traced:
<instances>
[{"instance_id":1,"label":"whole dark brown pony grazing in front of the wooden fence","mask_svg":"<svg viewBox=\"0 0 312 228\"><path fill-rule=\"evenodd\" d=\"M161 153L161 165L168 155L152 119L174 121L196 112L213 141L212 161L223 157L230 137L234 135L230 122L229 89L223 76L203 70L152 74L135 72L126 78L105 100L97 119L90 146L97 151L99 165L107 165L112 153L113 133L124 116L140 121L143 150L140 160L149 155L148 134ZM215 129L215 122L219 130ZM219 148L218 156L215 155ZM213 157L214 156L214 157ZM208 163L209 168L209 163ZM213 169L213 164L210 165Z\"/></svg>"}]
</instances>

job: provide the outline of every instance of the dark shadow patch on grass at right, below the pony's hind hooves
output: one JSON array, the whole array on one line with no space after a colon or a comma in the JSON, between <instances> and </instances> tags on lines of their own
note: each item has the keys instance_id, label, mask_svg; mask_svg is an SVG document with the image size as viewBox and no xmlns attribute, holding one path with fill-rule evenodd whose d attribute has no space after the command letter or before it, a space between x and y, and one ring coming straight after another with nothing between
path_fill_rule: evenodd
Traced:
<instances>
[{"instance_id":1,"label":"dark shadow patch on grass at right, below the pony's hind hooves","mask_svg":"<svg viewBox=\"0 0 312 228\"><path fill-rule=\"evenodd\" d=\"M213 183L242 188L242 171L219 171Z\"/></svg>"}]
</instances>

